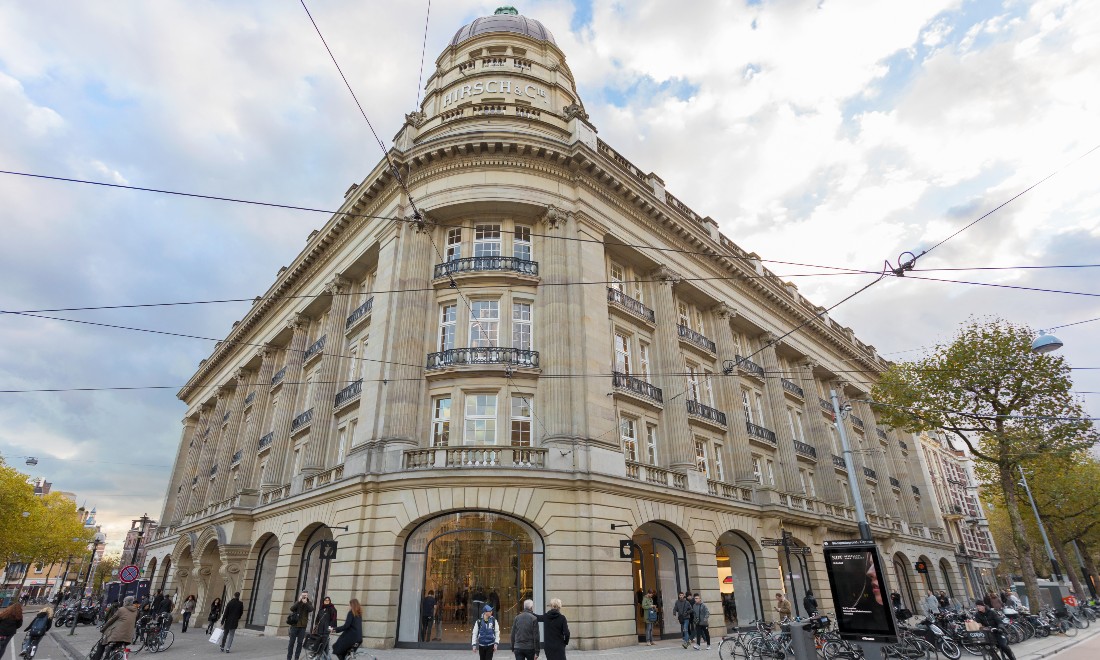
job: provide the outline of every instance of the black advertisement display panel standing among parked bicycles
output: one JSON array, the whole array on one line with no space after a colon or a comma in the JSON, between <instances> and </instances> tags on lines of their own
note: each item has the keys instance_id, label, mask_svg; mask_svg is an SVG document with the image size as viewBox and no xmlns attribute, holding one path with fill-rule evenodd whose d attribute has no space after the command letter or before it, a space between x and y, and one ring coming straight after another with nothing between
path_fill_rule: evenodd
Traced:
<instances>
[{"instance_id":1,"label":"black advertisement display panel standing among parked bicycles","mask_svg":"<svg viewBox=\"0 0 1100 660\"><path fill-rule=\"evenodd\" d=\"M886 574L873 544L826 544L825 566L837 625L845 637L894 637Z\"/></svg>"}]
</instances>

